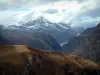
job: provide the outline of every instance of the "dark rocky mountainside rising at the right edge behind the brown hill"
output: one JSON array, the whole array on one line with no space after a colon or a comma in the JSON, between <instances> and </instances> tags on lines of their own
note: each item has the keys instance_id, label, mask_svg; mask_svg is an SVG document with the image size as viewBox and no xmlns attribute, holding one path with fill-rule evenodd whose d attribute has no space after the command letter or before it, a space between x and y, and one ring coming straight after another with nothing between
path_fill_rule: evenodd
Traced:
<instances>
[{"instance_id":1,"label":"dark rocky mountainside rising at the right edge behind the brown hill","mask_svg":"<svg viewBox=\"0 0 100 75\"><path fill-rule=\"evenodd\" d=\"M74 55L100 63L100 23L96 27L88 28L79 36L71 38L63 48Z\"/></svg>"}]
</instances>

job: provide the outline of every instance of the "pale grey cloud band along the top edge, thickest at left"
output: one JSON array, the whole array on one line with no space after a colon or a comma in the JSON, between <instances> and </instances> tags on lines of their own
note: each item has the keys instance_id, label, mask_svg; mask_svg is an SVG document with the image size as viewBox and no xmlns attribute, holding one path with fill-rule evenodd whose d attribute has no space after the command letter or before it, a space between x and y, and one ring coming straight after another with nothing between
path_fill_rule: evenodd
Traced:
<instances>
[{"instance_id":1,"label":"pale grey cloud band along the top edge, thickest at left","mask_svg":"<svg viewBox=\"0 0 100 75\"><path fill-rule=\"evenodd\" d=\"M10 8L21 8L21 7L33 7L36 5L48 4L57 1L65 0L0 0L0 10L10 9ZM66 0L66 1L78 1L82 2L84 0Z\"/></svg>"}]
</instances>

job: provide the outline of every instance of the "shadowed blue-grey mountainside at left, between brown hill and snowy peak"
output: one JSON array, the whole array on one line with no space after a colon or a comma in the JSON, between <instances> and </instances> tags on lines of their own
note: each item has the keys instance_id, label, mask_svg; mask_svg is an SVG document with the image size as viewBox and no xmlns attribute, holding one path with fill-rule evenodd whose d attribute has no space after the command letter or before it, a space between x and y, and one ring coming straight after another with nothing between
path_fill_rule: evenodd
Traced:
<instances>
[{"instance_id":1,"label":"shadowed blue-grey mountainside at left, between brown hill and snowy peak","mask_svg":"<svg viewBox=\"0 0 100 75\"><path fill-rule=\"evenodd\" d=\"M36 49L62 51L60 44L51 35L42 32L17 29L1 31L1 45L29 45Z\"/></svg>"}]
</instances>

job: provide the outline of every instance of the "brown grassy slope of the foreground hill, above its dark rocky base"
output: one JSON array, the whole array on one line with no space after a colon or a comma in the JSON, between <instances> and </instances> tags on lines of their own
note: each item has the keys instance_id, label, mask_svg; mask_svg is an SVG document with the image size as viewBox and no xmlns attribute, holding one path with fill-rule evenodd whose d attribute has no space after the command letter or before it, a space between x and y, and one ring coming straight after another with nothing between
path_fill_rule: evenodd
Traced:
<instances>
[{"instance_id":1,"label":"brown grassy slope of the foreground hill, above its dark rocky base","mask_svg":"<svg viewBox=\"0 0 100 75\"><path fill-rule=\"evenodd\" d=\"M0 46L0 68L9 69L10 71L20 71L26 60L32 54L40 54L44 59L55 63L58 66L65 64L71 64L77 68L97 69L100 66L93 61L72 56L70 54L62 54L55 51L44 51L29 48L24 45L13 45L13 46Z\"/></svg>"}]
</instances>

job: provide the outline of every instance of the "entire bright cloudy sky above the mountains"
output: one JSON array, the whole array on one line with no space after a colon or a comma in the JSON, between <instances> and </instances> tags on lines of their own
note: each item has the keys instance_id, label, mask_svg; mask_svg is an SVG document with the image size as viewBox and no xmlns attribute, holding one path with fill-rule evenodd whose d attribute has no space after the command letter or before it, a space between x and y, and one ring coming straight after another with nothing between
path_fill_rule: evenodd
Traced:
<instances>
[{"instance_id":1,"label":"entire bright cloudy sky above the mountains","mask_svg":"<svg viewBox=\"0 0 100 75\"><path fill-rule=\"evenodd\" d=\"M0 0L0 24L27 22L39 16L73 26L100 22L100 0Z\"/></svg>"}]
</instances>

